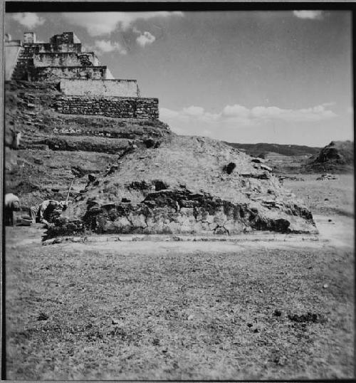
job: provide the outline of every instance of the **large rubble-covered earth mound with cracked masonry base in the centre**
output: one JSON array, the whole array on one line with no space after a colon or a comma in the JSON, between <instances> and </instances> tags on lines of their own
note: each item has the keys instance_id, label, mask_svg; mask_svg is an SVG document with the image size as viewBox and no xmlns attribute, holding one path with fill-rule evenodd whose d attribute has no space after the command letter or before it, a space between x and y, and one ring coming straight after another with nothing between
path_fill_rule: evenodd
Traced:
<instances>
[{"instance_id":1,"label":"large rubble-covered earth mound with cracked masonry base in the centre","mask_svg":"<svg viewBox=\"0 0 356 383\"><path fill-rule=\"evenodd\" d=\"M85 234L317 232L302 201L258 159L202 137L138 147L70 204L47 238Z\"/></svg>"}]
</instances>

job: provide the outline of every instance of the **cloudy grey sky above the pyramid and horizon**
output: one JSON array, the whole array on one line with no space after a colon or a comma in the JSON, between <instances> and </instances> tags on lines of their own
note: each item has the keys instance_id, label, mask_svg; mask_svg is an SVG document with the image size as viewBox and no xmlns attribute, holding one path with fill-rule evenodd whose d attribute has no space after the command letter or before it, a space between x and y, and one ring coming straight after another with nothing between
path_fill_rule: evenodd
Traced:
<instances>
[{"instance_id":1,"label":"cloudy grey sky above the pyramid and horizon","mask_svg":"<svg viewBox=\"0 0 356 383\"><path fill-rule=\"evenodd\" d=\"M349 11L6 14L13 39L73 31L180 135L323 147L353 140Z\"/></svg>"}]
</instances>

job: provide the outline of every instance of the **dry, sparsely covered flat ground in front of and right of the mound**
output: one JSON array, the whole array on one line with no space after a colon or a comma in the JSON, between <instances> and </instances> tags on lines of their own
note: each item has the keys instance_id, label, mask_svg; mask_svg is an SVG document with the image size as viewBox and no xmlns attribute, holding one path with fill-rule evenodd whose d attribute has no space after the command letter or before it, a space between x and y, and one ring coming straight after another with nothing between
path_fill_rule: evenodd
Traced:
<instances>
[{"instance_id":1,"label":"dry, sparsely covered flat ground in front of and right of the mound","mask_svg":"<svg viewBox=\"0 0 356 383\"><path fill-rule=\"evenodd\" d=\"M317 237L43 246L6 228L7 379L354 377L353 177L303 177L285 184Z\"/></svg>"}]
</instances>

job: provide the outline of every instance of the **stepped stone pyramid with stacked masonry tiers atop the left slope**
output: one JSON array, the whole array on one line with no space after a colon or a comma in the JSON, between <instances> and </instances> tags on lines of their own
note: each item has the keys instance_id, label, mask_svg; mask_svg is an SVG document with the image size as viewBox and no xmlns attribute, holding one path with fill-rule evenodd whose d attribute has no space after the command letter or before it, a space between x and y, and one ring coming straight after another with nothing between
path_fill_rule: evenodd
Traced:
<instances>
[{"instance_id":1,"label":"stepped stone pyramid with stacked masonry tiers atop the left slope","mask_svg":"<svg viewBox=\"0 0 356 383\"><path fill-rule=\"evenodd\" d=\"M6 80L58 83L63 95L53 106L58 112L119 118L157 119L158 99L140 97L137 80L115 79L95 52L83 50L75 33L37 42L26 32L23 41L5 36Z\"/></svg>"}]
</instances>

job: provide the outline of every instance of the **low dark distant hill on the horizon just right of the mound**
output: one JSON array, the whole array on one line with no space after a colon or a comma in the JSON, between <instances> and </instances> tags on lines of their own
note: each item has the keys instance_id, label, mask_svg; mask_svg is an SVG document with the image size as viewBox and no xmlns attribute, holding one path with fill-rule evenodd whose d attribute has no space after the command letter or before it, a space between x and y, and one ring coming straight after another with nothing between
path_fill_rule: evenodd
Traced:
<instances>
[{"instance_id":1,"label":"low dark distant hill on the horizon just right of the mound","mask_svg":"<svg viewBox=\"0 0 356 383\"><path fill-rule=\"evenodd\" d=\"M239 144L235 142L226 142L227 145L231 147L236 147L236 149L245 150L246 154L252 156L263 156L268 152L274 152L278 154L283 154L285 156L311 156L313 154L318 154L320 152L320 147L308 147L306 145L278 145L278 144Z\"/></svg>"}]
</instances>

